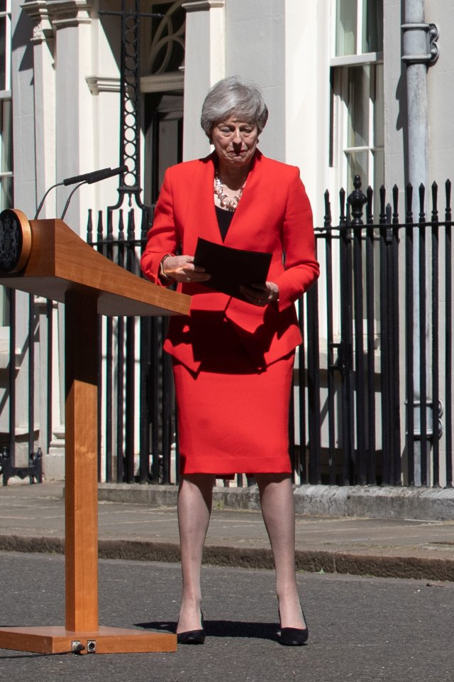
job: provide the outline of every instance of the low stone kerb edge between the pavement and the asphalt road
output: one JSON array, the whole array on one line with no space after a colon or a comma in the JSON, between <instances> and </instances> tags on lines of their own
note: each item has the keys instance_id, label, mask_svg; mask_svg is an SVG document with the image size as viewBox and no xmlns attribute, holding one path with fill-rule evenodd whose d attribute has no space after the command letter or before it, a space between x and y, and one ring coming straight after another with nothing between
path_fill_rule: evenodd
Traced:
<instances>
[{"instance_id":1,"label":"low stone kerb edge between the pavement and the asphalt road","mask_svg":"<svg viewBox=\"0 0 454 682\"><path fill-rule=\"evenodd\" d=\"M0 535L0 551L64 554L62 538L24 538ZM308 573L368 575L377 578L414 578L454 582L454 561L416 556L373 556L345 552L296 552L297 570ZM179 562L179 546L133 540L99 540L99 558L127 561ZM204 565L230 568L273 569L270 549L206 546Z\"/></svg>"}]
</instances>

